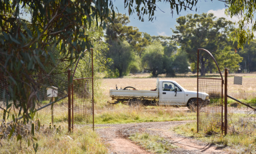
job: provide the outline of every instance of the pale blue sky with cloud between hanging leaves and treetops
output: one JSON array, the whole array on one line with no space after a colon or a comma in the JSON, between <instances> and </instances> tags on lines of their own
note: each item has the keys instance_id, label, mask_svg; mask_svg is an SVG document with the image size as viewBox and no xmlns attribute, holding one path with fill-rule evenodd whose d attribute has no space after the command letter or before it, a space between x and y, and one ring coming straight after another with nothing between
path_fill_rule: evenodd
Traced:
<instances>
[{"instance_id":1,"label":"pale blue sky with cloud between hanging leaves and treetops","mask_svg":"<svg viewBox=\"0 0 256 154\"><path fill-rule=\"evenodd\" d=\"M124 9L124 1L123 0L115 0L115 2L113 3L119 13L123 13L127 16L129 16L128 13L128 9ZM191 14L201 14L201 13L214 13L216 17L225 17L227 19L229 19L230 21L237 21L237 19L233 18L231 19L230 17L227 17L225 15L225 4L221 1L217 1L217 0L199 0L199 2L197 3L197 12L194 11L181 11L181 13L179 15L177 15L176 10L173 10L173 17L171 15L171 9L169 7L169 3L157 3L158 7L164 11L165 13L163 13L162 11L160 11L157 8L157 11L155 11L155 17L157 17L157 19L153 19L153 21L148 21L148 16L144 16L144 22L139 21L139 19L137 19L137 15L133 14L131 15L130 21L131 23L129 23L129 26L133 26L133 27L137 27L139 29L139 31L141 32L145 32L145 33L149 33L149 35L163 35L163 36L168 36L171 37L171 35L173 35L173 32L171 31L171 29L175 29L175 25L177 25L176 23L176 19L180 16L185 16L189 13Z\"/></svg>"}]
</instances>

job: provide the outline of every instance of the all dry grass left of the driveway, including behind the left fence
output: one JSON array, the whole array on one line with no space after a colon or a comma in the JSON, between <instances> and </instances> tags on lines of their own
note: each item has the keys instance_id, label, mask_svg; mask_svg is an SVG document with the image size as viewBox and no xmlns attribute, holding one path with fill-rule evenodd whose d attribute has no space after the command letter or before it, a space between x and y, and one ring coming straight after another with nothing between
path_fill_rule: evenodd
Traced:
<instances>
[{"instance_id":1,"label":"all dry grass left of the driveway, including behind the left fence","mask_svg":"<svg viewBox=\"0 0 256 154\"><path fill-rule=\"evenodd\" d=\"M15 112L11 110L11 114L15 114ZM0 115L3 115L3 110L0 110ZM7 139L7 130L3 132L3 128L0 127L0 132L5 134L3 139L1 139L3 147L1 147L0 153L35 153L33 143L38 143L39 145L37 153L107 153L108 151L105 143L101 141L97 133L87 126L75 127L72 133L68 133L66 100L54 106L53 124L56 127L61 125L61 131L49 129L51 106L37 112L35 119L37 118L40 119L41 125L44 126L41 126L39 131L35 131L37 141L34 140L32 142L30 140L30 146L28 146L28 139L31 138L31 133L23 136L20 144L19 141L16 141L16 133L14 133L11 139ZM7 121L11 121L11 117ZM31 122L29 121L24 127L31 131Z\"/></svg>"}]
</instances>

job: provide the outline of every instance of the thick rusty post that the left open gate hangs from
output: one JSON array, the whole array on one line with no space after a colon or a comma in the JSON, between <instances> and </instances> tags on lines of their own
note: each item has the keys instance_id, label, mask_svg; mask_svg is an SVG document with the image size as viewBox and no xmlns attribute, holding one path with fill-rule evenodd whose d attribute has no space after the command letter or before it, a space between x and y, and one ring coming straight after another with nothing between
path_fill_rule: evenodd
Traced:
<instances>
[{"instance_id":1,"label":"thick rusty post that the left open gate hangs from","mask_svg":"<svg viewBox=\"0 0 256 154\"><path fill-rule=\"evenodd\" d=\"M69 129L69 132L71 131L71 82L70 82L70 75L71 75L71 70L67 70L67 83L68 83L68 86L67 86L67 97L68 97L68 129Z\"/></svg>"}]
</instances>

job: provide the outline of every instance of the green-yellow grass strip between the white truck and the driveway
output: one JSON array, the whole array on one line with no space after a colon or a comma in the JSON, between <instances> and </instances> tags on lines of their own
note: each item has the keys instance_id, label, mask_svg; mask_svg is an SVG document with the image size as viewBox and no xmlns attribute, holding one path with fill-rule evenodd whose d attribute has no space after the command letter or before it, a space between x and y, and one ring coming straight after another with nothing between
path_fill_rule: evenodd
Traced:
<instances>
[{"instance_id":1,"label":"green-yellow grass strip between the white truck and the driveway","mask_svg":"<svg viewBox=\"0 0 256 154\"><path fill-rule=\"evenodd\" d=\"M116 104L115 108L95 114L95 123L134 123L147 121L195 120L195 113L177 111L171 107L135 107Z\"/></svg>"}]
</instances>

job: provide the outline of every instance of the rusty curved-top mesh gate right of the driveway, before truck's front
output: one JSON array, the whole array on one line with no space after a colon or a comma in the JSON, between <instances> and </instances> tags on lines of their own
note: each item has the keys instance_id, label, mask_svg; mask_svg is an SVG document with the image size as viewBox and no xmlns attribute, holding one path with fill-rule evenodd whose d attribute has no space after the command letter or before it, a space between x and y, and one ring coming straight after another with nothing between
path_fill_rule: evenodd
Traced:
<instances>
[{"instance_id":1,"label":"rusty curved-top mesh gate right of the driveway, before truck's front","mask_svg":"<svg viewBox=\"0 0 256 154\"><path fill-rule=\"evenodd\" d=\"M227 116L227 112L224 112L226 110L223 110L223 76L219 70L219 78L199 77L199 62L203 60L199 55L200 51L206 52L204 55L209 56L208 60L213 60L219 70L213 55L208 50L199 48L197 50L197 102L199 102L197 103L197 132L223 133L223 131L227 130L227 127L225 127L227 125L223 123ZM210 102L205 102L205 93L209 94Z\"/></svg>"}]
</instances>

